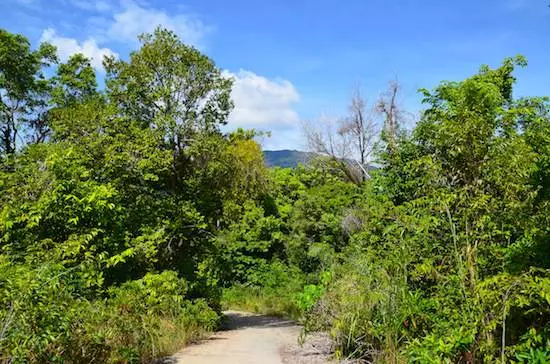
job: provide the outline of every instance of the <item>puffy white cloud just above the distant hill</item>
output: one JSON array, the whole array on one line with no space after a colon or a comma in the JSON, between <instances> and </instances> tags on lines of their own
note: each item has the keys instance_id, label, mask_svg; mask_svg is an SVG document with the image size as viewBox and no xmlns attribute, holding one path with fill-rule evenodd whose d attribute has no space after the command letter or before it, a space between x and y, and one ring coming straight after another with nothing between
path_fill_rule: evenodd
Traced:
<instances>
[{"instance_id":1,"label":"puffy white cloud just above the distant hill","mask_svg":"<svg viewBox=\"0 0 550 364\"><path fill-rule=\"evenodd\" d=\"M295 145L287 142L289 136L300 134L300 117L294 109L300 95L290 81L270 80L246 70L225 71L224 75L234 79L231 97L235 109L229 117L228 129L271 131L272 137L263 144L272 148Z\"/></svg>"}]
</instances>

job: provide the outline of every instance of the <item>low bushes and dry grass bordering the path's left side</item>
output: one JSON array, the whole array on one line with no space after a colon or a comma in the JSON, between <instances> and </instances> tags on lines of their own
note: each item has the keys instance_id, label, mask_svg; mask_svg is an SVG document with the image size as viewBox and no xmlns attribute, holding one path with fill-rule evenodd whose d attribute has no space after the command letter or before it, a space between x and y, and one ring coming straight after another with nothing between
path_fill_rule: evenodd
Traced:
<instances>
[{"instance_id":1,"label":"low bushes and dry grass bordering the path's left side","mask_svg":"<svg viewBox=\"0 0 550 364\"><path fill-rule=\"evenodd\" d=\"M0 362L146 363L218 324L204 300L185 299L174 272L147 274L93 301L75 294L71 273L0 263Z\"/></svg>"}]
</instances>

